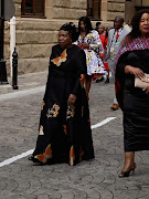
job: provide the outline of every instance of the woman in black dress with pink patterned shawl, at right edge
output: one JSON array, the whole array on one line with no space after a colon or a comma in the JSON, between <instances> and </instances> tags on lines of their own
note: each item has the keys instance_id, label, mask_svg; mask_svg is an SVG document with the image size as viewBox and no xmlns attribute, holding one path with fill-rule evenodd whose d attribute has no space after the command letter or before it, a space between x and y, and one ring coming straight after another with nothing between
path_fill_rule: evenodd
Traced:
<instances>
[{"instance_id":1,"label":"woman in black dress with pink patterned shawl, at right edge","mask_svg":"<svg viewBox=\"0 0 149 199\"><path fill-rule=\"evenodd\" d=\"M149 83L142 90L135 86L135 77L149 74L149 11L140 11L132 19L117 56L116 94L124 112L125 166L119 177L128 177L136 168L135 151L149 150Z\"/></svg>"}]
</instances>

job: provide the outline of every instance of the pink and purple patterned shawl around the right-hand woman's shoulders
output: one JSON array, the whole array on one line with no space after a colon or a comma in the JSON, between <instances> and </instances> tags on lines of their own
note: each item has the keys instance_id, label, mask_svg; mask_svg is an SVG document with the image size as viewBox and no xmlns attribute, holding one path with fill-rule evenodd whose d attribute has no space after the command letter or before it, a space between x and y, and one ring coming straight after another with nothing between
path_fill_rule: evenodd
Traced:
<instances>
[{"instance_id":1,"label":"pink and purple patterned shawl around the right-hand woman's shoulders","mask_svg":"<svg viewBox=\"0 0 149 199\"><path fill-rule=\"evenodd\" d=\"M131 52L131 51L139 51L139 50L149 50L149 38L137 38L134 39L131 42L129 42L126 45L123 45L117 54L116 57L116 69L118 66L118 62L120 56L126 53L126 52ZM116 71L115 69L115 71ZM118 101L118 104L120 106L120 108L123 109L124 106L124 84L120 83L121 81L118 78L118 75L115 75L115 88L116 88L116 97Z\"/></svg>"}]
</instances>

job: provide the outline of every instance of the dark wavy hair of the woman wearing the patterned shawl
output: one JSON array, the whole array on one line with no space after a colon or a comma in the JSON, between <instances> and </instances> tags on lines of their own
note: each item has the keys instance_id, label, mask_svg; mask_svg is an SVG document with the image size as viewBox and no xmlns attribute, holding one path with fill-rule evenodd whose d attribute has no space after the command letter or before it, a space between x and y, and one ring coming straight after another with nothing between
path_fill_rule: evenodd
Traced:
<instances>
[{"instance_id":1,"label":"dark wavy hair of the woman wearing the patterned shawl","mask_svg":"<svg viewBox=\"0 0 149 199\"><path fill-rule=\"evenodd\" d=\"M140 10L139 12L137 12L134 15L132 21L131 21L132 30L129 33L130 39L136 39L136 38L141 35L139 24L140 24L140 19L141 19L143 13L149 13L149 10Z\"/></svg>"}]
</instances>

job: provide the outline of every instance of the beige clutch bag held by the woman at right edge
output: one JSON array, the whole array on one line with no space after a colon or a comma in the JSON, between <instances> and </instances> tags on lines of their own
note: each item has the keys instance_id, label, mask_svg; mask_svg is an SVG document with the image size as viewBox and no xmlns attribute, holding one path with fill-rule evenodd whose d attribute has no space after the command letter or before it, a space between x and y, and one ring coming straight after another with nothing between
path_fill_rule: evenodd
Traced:
<instances>
[{"instance_id":1,"label":"beige clutch bag held by the woman at right edge","mask_svg":"<svg viewBox=\"0 0 149 199\"><path fill-rule=\"evenodd\" d=\"M148 84L149 84L149 74L145 73L145 76L141 78L135 77L135 87L139 87L145 91Z\"/></svg>"}]
</instances>

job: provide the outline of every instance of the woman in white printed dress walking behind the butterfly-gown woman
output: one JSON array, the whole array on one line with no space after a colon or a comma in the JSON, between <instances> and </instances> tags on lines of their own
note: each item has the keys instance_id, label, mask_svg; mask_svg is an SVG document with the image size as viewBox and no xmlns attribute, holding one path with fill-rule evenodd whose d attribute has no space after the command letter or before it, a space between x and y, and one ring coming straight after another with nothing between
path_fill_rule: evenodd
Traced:
<instances>
[{"instance_id":1,"label":"woman in white printed dress walking behind the butterfly-gown woman","mask_svg":"<svg viewBox=\"0 0 149 199\"><path fill-rule=\"evenodd\" d=\"M105 74L104 63L99 53L104 52L98 32L93 30L89 18L82 17L78 21L77 44L84 49L87 63L86 95L88 97L93 74ZM88 97L89 98L89 97Z\"/></svg>"}]
</instances>

